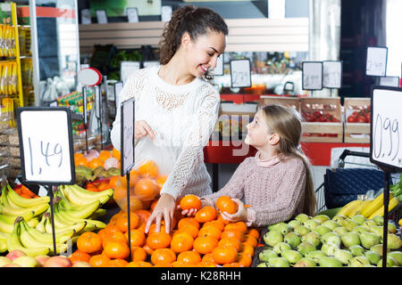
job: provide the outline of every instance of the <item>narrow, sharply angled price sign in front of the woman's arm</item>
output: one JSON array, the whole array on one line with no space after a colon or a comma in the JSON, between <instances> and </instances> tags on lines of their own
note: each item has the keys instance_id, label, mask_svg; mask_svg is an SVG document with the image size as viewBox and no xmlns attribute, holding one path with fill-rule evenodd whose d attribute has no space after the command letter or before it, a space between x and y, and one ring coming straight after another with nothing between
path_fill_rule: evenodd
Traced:
<instances>
[{"instance_id":1,"label":"narrow, sharply angled price sign in front of the woman's arm","mask_svg":"<svg viewBox=\"0 0 402 285\"><path fill-rule=\"evenodd\" d=\"M134 166L134 98L121 102L121 176Z\"/></svg>"}]
</instances>

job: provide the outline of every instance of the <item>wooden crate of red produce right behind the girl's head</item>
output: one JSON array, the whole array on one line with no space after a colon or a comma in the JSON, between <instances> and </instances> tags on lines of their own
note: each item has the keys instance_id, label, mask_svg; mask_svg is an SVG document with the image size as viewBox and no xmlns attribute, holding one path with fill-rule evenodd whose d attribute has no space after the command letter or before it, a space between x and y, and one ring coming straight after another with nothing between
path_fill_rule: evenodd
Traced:
<instances>
[{"instance_id":1,"label":"wooden crate of red produce right behind the girl's head","mask_svg":"<svg viewBox=\"0 0 402 285\"><path fill-rule=\"evenodd\" d=\"M322 112L336 118L337 122L303 122L301 142L343 142L342 110L340 98L300 98L300 112Z\"/></svg>"}]
</instances>

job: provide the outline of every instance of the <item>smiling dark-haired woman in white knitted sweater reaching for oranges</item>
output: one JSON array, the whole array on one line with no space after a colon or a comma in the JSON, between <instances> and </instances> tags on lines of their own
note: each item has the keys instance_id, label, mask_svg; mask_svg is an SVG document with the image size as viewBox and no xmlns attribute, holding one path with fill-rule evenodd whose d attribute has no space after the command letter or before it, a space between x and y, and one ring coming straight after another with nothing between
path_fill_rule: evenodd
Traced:
<instances>
[{"instance_id":1,"label":"smiling dark-haired woman in white knitted sweater reaching for oranges","mask_svg":"<svg viewBox=\"0 0 402 285\"><path fill-rule=\"evenodd\" d=\"M228 27L211 9L186 5L175 10L163 31L157 68L139 69L124 85L120 102L135 98L136 163L139 157L163 150L169 168L161 196L148 219L166 232L172 227L176 199L192 193L211 193L211 178L203 148L218 118L220 95L208 82L208 72L224 52ZM118 110L111 139L120 149L121 114ZM156 148L156 149L155 149Z\"/></svg>"}]
</instances>

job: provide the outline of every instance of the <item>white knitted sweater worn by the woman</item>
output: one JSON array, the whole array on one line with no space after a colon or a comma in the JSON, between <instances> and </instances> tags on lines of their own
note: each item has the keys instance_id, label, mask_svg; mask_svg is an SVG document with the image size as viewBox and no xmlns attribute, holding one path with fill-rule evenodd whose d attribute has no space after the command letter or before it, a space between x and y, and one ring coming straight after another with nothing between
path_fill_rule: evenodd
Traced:
<instances>
[{"instance_id":1,"label":"white knitted sweater worn by the woman","mask_svg":"<svg viewBox=\"0 0 402 285\"><path fill-rule=\"evenodd\" d=\"M203 149L218 118L219 93L201 78L187 85L170 85L158 76L159 67L138 69L130 75L118 102L135 98L136 121L145 120L156 133L138 140L136 166L153 159L168 175L161 193L175 199L188 193L201 197L212 193L211 178L204 163ZM111 140L121 148L121 110L118 108Z\"/></svg>"}]
</instances>

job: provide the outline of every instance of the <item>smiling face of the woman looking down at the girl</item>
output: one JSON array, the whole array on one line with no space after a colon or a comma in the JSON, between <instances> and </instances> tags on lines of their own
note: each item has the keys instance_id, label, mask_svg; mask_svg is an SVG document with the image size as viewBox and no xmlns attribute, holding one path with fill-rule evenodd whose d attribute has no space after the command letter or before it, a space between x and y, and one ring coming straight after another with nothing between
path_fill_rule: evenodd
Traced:
<instances>
[{"instance_id":1,"label":"smiling face of the woman looking down at the girl","mask_svg":"<svg viewBox=\"0 0 402 285\"><path fill-rule=\"evenodd\" d=\"M188 71L194 77L203 77L208 69L216 67L225 46L225 36L218 32L209 32L197 37L196 41L190 41L186 46Z\"/></svg>"}]
</instances>

